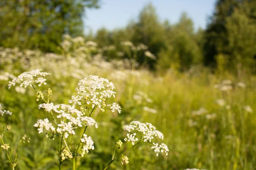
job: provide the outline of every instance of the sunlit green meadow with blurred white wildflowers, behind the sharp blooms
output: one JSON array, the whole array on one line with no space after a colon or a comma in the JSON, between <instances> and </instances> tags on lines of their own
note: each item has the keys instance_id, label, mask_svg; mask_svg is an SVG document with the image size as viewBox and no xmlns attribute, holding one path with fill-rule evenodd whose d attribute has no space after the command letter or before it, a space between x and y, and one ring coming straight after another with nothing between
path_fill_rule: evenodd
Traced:
<instances>
[{"instance_id":1,"label":"sunlit green meadow with blurred white wildflowers, behind the sharp blooms","mask_svg":"<svg viewBox=\"0 0 256 170\"><path fill-rule=\"evenodd\" d=\"M76 46L80 42L83 45ZM72 48L66 48L70 43L73 43ZM0 48L0 134L3 139L0 144L3 145L4 141L11 148L0 150L1 170L12 169L6 153L14 159L19 143L15 170L59 169L58 142L61 136L57 134L52 140L49 136L46 138L47 130L38 133L35 123L49 115L38 105L44 103L42 94L47 98L48 93L49 99L49 93L52 93L50 102L54 105L72 106L69 100L77 95L75 89L79 87L79 80L89 79L90 75L113 82L116 95L108 99L108 103L117 103L121 113L111 109L102 112L99 107L92 111L90 116L98 128L89 127L86 134L93 139L94 150L91 148L83 157L76 156L77 170L103 170L111 161L111 151L118 140L123 146L116 153L129 150L132 144L125 142L127 131L123 128L132 121L151 123L162 132L164 138L159 142L168 146L169 154L160 152L156 156L150 145L144 142L125 153L128 164L120 164L117 159L108 169L255 169L256 79L246 71L238 71L237 75L227 72L213 74L198 66L186 72L172 69L152 72L138 68L132 59L108 62L103 52L109 47L98 48L95 42L86 42L81 37L80 40L63 42L60 48L61 55ZM20 82L9 88L9 81L25 71L36 69L50 74L44 77L46 85L33 82L41 96L33 87L20 87ZM81 102L88 105L83 100ZM75 107L79 109L79 106ZM53 123L52 119L49 120ZM10 127L6 129L6 125ZM83 130L77 128L76 134L70 135L67 142L80 140ZM25 143L20 142L24 134ZM61 168L70 170L72 164L72 159L66 158Z\"/></svg>"}]
</instances>

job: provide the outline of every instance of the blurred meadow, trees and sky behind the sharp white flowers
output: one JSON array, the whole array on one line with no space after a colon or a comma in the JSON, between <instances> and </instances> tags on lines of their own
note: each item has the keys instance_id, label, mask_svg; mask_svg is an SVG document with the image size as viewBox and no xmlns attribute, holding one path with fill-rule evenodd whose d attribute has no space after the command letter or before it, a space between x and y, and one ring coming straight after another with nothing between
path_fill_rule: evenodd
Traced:
<instances>
[{"instance_id":1,"label":"blurred meadow, trees and sky behind the sharp white flowers","mask_svg":"<svg viewBox=\"0 0 256 170\"><path fill-rule=\"evenodd\" d=\"M67 104L90 74L116 86L122 113L97 111L95 150L79 170L102 170L132 120L155 125L170 153L142 146L109 169L253 170L255 66L256 0L0 0L0 103L13 112L0 125L13 125L13 147L31 137L20 170L58 169L56 144L33 127L46 117L36 94L8 89L33 69L51 74L38 89L52 88L55 104ZM0 154L0 169L9 168Z\"/></svg>"}]
</instances>

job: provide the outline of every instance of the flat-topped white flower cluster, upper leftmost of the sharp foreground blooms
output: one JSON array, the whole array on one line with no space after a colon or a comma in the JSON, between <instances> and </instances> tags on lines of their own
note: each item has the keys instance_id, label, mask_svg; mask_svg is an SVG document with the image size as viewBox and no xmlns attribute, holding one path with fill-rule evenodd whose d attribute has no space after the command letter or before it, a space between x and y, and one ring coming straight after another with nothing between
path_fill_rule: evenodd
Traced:
<instances>
[{"instance_id":1,"label":"flat-topped white flower cluster, upper leftmost of the sharp foreground blooms","mask_svg":"<svg viewBox=\"0 0 256 170\"><path fill-rule=\"evenodd\" d=\"M24 88L35 85L35 84L38 84L38 86L41 86L42 84L46 85L47 84L45 82L46 79L44 79L43 77L47 75L50 75L50 74L47 72L41 72L41 69L24 72L20 74L17 78L10 81L8 88L15 86L17 81L20 81L21 82L20 87L24 87Z\"/></svg>"}]
</instances>

